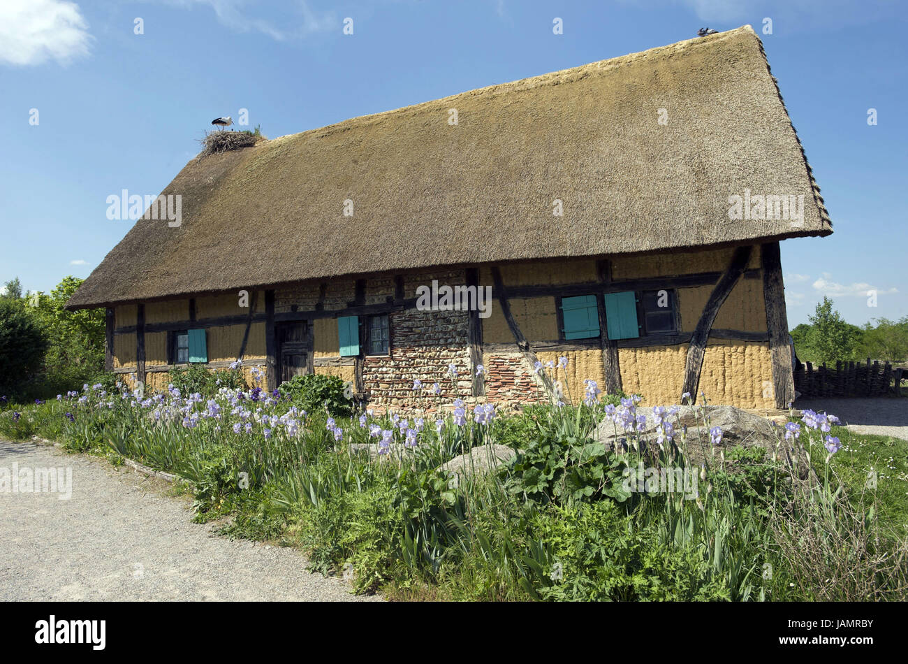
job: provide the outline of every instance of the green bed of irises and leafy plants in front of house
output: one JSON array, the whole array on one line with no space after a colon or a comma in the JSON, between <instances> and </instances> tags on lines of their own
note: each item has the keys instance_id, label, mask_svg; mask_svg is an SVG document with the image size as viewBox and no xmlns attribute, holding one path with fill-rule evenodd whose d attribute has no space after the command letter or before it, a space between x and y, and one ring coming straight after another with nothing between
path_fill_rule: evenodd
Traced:
<instances>
[{"instance_id":1,"label":"green bed of irises and leafy plants in front of house","mask_svg":"<svg viewBox=\"0 0 908 664\"><path fill-rule=\"evenodd\" d=\"M184 396L200 391L189 382L184 388ZM281 422L302 419L296 396L296 403L266 405L219 394L216 409L168 395L158 411L90 387L82 397L19 407L15 420L7 406L0 436L34 432L73 451L107 450L112 461L172 472L191 487L196 520L229 516L222 532L231 537L299 545L316 570L342 573L359 592L390 587L410 598L454 600L903 599L901 442L864 445L836 429L846 444L829 460L817 432L805 429L797 444L812 452L816 474L796 490L764 451L735 448L712 458L716 467L707 458L706 480L694 491L630 493L622 480L638 461L684 468L685 451L663 450L636 432L627 433L627 449L607 451L592 436L601 404L534 407L490 424L457 426L449 416L440 434L429 421L415 449L370 459L348 443L374 441L370 422L397 429L388 417L366 415L366 427L339 418L336 440L316 404L291 431ZM209 408L215 413L204 415ZM524 453L488 475L455 481L437 470L476 441ZM868 467L880 470L879 489L861 496ZM891 513L891 528L877 528L873 510L881 508Z\"/></svg>"}]
</instances>

